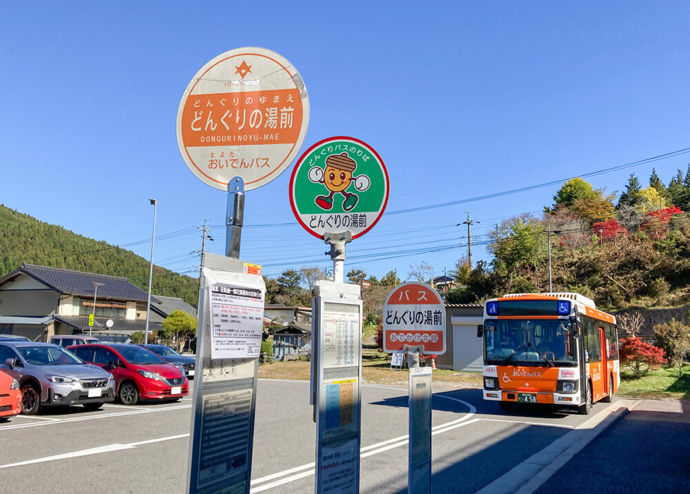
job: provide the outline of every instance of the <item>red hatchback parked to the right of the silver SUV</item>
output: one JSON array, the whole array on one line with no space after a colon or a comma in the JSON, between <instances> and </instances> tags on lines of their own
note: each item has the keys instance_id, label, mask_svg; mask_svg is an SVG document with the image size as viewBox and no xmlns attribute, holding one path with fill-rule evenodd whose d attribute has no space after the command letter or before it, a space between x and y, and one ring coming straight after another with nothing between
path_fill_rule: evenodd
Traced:
<instances>
[{"instance_id":1,"label":"red hatchback parked to the right of the silver SUV","mask_svg":"<svg viewBox=\"0 0 690 494\"><path fill-rule=\"evenodd\" d=\"M126 405L140 400L177 400L189 393L189 382L177 366L141 346L86 344L67 349L83 361L108 370L115 377L115 393Z\"/></svg>"}]
</instances>

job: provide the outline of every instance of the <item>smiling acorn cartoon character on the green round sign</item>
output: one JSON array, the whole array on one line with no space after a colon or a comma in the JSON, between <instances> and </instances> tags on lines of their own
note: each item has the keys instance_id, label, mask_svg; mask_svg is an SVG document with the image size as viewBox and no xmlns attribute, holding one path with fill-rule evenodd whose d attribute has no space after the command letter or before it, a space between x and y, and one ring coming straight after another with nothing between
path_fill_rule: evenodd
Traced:
<instances>
[{"instance_id":1,"label":"smiling acorn cartoon character on the green round sign","mask_svg":"<svg viewBox=\"0 0 690 494\"><path fill-rule=\"evenodd\" d=\"M333 208L333 195L340 192L343 199L343 210L350 211L355 207L359 197L354 192L347 192L347 188L354 182L355 189L359 192L369 188L371 181L366 175L353 177L357 168L355 160L341 152L339 155L331 155L326 158L326 168L322 170L314 166L309 170L309 179L314 183L324 184L328 189L328 195L319 195L315 202L319 208L330 210Z\"/></svg>"}]
</instances>

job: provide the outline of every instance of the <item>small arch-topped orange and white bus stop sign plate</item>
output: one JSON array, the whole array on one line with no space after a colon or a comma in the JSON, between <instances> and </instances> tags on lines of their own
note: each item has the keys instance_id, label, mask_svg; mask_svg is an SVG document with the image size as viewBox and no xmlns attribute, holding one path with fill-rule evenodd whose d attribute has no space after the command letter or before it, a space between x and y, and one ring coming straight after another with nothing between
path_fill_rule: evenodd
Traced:
<instances>
[{"instance_id":1,"label":"small arch-topped orange and white bus stop sign plate","mask_svg":"<svg viewBox=\"0 0 690 494\"><path fill-rule=\"evenodd\" d=\"M384 303L384 350L424 345L424 355L446 352L446 310L436 290L410 281L388 294Z\"/></svg>"}]
</instances>

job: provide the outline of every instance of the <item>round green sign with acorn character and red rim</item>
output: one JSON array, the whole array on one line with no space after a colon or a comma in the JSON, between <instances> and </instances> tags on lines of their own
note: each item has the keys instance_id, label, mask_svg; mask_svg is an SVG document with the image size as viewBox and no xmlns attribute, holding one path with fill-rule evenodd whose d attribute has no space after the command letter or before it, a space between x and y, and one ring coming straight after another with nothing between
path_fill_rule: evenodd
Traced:
<instances>
[{"instance_id":1,"label":"round green sign with acorn character and red rim","mask_svg":"<svg viewBox=\"0 0 690 494\"><path fill-rule=\"evenodd\" d=\"M330 137L297 161L290 177L290 206L315 237L350 230L356 239L383 215L388 187L384 161L371 146L354 137Z\"/></svg>"}]
</instances>

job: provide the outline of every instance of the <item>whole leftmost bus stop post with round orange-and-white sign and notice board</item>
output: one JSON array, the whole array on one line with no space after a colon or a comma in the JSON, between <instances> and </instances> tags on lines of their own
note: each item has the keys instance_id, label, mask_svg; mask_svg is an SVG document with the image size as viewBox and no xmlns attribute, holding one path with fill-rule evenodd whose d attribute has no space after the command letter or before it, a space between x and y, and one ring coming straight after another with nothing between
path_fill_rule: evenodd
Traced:
<instances>
[{"instance_id":1,"label":"whole leftmost bus stop post with round orange-and-white sign and notice board","mask_svg":"<svg viewBox=\"0 0 690 494\"><path fill-rule=\"evenodd\" d=\"M226 256L204 253L188 493L249 494L266 286L239 260L244 192L293 161L309 121L302 77L281 55L237 48L206 63L177 111L177 144L191 172L228 191Z\"/></svg>"}]
</instances>

